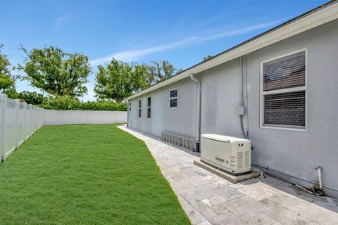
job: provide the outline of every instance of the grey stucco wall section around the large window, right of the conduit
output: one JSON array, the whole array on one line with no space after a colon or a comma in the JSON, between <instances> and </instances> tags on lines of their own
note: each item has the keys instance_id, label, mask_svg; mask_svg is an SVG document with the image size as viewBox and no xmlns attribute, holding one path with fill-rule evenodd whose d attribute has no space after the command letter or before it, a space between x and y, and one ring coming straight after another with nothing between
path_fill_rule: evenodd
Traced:
<instances>
[{"instance_id":1,"label":"grey stucco wall section around the large window, right of the conduit","mask_svg":"<svg viewBox=\"0 0 338 225\"><path fill-rule=\"evenodd\" d=\"M252 162L338 188L338 20L247 56ZM306 49L306 131L260 128L260 63ZM312 186L302 182L305 186ZM328 191L328 189L327 189Z\"/></svg>"}]
</instances>

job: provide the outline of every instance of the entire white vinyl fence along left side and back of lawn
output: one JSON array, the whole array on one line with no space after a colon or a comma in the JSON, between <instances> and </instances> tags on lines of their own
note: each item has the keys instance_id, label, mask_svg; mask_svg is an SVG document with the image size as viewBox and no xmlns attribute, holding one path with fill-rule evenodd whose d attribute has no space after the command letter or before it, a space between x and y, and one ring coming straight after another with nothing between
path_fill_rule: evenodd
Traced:
<instances>
[{"instance_id":1,"label":"entire white vinyl fence along left side and back of lawn","mask_svg":"<svg viewBox=\"0 0 338 225\"><path fill-rule=\"evenodd\" d=\"M44 125L126 122L127 112L44 110L0 94L0 163Z\"/></svg>"}]
</instances>

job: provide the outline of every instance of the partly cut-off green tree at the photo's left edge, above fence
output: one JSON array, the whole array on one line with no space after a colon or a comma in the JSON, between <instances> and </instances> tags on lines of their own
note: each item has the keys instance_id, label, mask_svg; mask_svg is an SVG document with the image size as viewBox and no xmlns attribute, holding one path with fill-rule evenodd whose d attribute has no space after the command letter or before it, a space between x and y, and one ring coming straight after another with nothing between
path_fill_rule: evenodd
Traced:
<instances>
[{"instance_id":1,"label":"partly cut-off green tree at the photo's left edge, above fence","mask_svg":"<svg viewBox=\"0 0 338 225\"><path fill-rule=\"evenodd\" d=\"M0 91L8 91L15 88L15 79L11 75L11 63L7 59L7 55L1 53L3 44L0 44Z\"/></svg>"}]
</instances>

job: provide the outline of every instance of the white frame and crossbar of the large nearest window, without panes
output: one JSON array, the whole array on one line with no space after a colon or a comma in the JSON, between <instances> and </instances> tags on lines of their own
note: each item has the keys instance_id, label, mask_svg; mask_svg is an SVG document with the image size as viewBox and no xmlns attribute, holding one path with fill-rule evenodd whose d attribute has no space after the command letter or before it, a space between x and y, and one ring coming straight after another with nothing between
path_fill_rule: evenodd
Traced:
<instances>
[{"instance_id":1,"label":"white frame and crossbar of the large nearest window, without panes","mask_svg":"<svg viewBox=\"0 0 338 225\"><path fill-rule=\"evenodd\" d=\"M263 91L263 64L270 62L272 60L276 60L278 58L283 58L285 56L291 56L295 53L299 53L301 51L305 51L305 85L304 86L297 86L297 87L292 87L292 88L287 88L287 89L279 89L279 90L271 90L271 91ZM261 67L260 67L260 127L262 129L283 129L283 130L289 130L289 131L308 131L308 50L307 49L300 49L298 51L293 51L287 54L284 54L282 56L277 56L275 58L270 58L268 60L264 60L261 62ZM265 95L270 95L270 94L283 94L283 93L290 93L290 92L296 92L296 91L305 91L305 127L304 128L296 128L296 127L277 127L276 126L267 126L264 125L264 96Z\"/></svg>"}]
</instances>

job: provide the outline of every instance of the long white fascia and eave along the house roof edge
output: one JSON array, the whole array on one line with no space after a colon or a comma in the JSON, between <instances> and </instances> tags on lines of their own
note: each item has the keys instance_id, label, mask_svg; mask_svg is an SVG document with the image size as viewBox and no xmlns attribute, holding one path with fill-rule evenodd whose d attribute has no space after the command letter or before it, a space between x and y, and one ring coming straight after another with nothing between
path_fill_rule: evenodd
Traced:
<instances>
[{"instance_id":1,"label":"long white fascia and eave along the house roof edge","mask_svg":"<svg viewBox=\"0 0 338 225\"><path fill-rule=\"evenodd\" d=\"M137 94L134 94L125 100L129 101L130 99L137 98L138 96L142 96L150 91L154 91L163 86L167 86L168 84L172 84L177 82L180 79L184 79L189 77L190 74L196 74L202 72L204 70L208 70L222 63L226 63L234 58L239 58L240 56L244 56L248 53L256 51L258 49L262 49L265 46L269 46L271 44L276 43L277 41L281 41L283 39L287 39L301 32L305 32L306 30L310 30L314 27L318 27L319 25L323 25L332 20L338 18L338 3L332 4L331 6L327 6L326 8L320 9L319 11L315 11L310 13L309 15L305 15L303 18L299 18L298 20L292 21L291 23L284 25L283 27L277 28L277 30L273 30L272 32L268 32L264 34L262 37L257 37L257 39L253 39L246 44L238 46L236 49L232 49L231 51L227 51L220 56L216 56L215 58L211 58L207 60L205 63L198 64L188 70L181 72L170 79L166 79L163 82L155 84L154 86L149 87L148 89L144 89Z\"/></svg>"}]
</instances>

